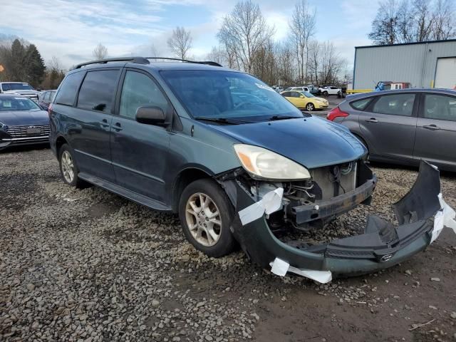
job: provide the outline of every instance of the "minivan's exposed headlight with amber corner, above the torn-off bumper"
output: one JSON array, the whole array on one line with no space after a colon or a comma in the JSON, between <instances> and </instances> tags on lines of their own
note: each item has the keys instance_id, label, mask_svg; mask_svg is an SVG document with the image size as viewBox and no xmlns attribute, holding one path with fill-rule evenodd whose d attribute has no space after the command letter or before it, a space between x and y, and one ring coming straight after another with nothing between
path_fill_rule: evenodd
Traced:
<instances>
[{"instance_id":1,"label":"minivan's exposed headlight with amber corner, above the torn-off bumper","mask_svg":"<svg viewBox=\"0 0 456 342\"><path fill-rule=\"evenodd\" d=\"M254 178L269 180L306 180L311 177L306 167L263 147L234 145L244 169Z\"/></svg>"}]
</instances>

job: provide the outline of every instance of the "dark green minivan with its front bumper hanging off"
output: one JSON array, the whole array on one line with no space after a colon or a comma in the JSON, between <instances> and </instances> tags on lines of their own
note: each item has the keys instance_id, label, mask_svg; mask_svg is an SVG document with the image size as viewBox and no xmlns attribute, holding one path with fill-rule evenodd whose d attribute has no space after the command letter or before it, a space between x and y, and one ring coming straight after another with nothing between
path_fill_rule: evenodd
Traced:
<instances>
[{"instance_id":1,"label":"dark green minivan with its front bumper hanging off","mask_svg":"<svg viewBox=\"0 0 456 342\"><path fill-rule=\"evenodd\" d=\"M376 178L366 148L247 73L150 60L110 58L66 75L49 108L63 182L178 213L185 237L210 257L240 244L261 266L279 258L324 281L393 266L430 243L440 183L426 163L414 187L425 195L409 194L396 210L407 227L396 232L373 217L366 234L327 244L279 239L274 232L309 229L370 202Z\"/></svg>"}]
</instances>

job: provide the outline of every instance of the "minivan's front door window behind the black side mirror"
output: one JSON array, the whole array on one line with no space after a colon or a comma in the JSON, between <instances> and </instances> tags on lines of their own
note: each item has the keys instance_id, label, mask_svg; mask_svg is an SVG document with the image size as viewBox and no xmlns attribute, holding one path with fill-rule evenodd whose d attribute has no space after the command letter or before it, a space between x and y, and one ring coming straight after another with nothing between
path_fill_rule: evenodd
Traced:
<instances>
[{"instance_id":1,"label":"minivan's front door window behind the black side mirror","mask_svg":"<svg viewBox=\"0 0 456 342\"><path fill-rule=\"evenodd\" d=\"M168 110L168 101L162 90L152 79L143 73L127 71L123 81L122 95L120 95L121 116L134 119L136 110L143 106L162 108L163 113Z\"/></svg>"}]
</instances>

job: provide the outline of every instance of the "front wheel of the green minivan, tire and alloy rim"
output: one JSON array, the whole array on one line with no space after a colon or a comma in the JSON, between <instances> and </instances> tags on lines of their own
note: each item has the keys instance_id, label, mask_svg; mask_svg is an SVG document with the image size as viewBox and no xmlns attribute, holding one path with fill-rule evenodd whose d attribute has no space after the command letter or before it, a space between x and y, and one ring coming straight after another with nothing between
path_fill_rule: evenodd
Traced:
<instances>
[{"instance_id":1,"label":"front wheel of the green minivan, tire and alloy rim","mask_svg":"<svg viewBox=\"0 0 456 342\"><path fill-rule=\"evenodd\" d=\"M213 180L196 180L185 188L179 218L185 237L199 251L216 258L233 252L236 242L229 227L234 208Z\"/></svg>"}]
</instances>

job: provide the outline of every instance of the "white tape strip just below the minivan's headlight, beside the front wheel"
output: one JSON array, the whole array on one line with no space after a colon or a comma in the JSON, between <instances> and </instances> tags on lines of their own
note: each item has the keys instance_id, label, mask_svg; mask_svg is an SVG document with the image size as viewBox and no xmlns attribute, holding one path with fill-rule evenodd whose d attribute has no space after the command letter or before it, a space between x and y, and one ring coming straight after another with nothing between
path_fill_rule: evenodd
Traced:
<instances>
[{"instance_id":1,"label":"white tape strip just below the minivan's headlight, beside the front wheel","mask_svg":"<svg viewBox=\"0 0 456 342\"><path fill-rule=\"evenodd\" d=\"M239 218L244 226L247 223L253 222L266 214L276 212L281 208L282 196L284 195L284 189L279 187L274 191L268 192L258 202L255 202L249 207L239 211Z\"/></svg>"}]
</instances>

